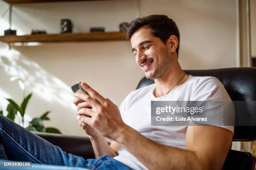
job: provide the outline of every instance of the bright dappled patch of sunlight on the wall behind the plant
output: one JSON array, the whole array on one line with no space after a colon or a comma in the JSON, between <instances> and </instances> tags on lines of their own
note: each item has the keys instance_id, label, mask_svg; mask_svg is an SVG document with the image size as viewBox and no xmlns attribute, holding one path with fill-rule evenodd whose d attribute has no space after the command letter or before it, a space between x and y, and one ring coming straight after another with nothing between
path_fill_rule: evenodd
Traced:
<instances>
[{"instance_id":1,"label":"bright dappled patch of sunlight on the wall behind the plant","mask_svg":"<svg viewBox=\"0 0 256 170\"><path fill-rule=\"evenodd\" d=\"M27 60L16 50L9 50L5 43L0 42L0 110L6 114L7 101L11 97L18 103L22 100L22 90L15 82L10 82L10 77L18 76L26 85L26 95L33 92L31 101L28 103L25 117L25 126L31 117L37 117L46 110L51 110L51 121L46 125L59 128L64 134L82 134L76 117L76 107L72 103L73 93L69 86L57 77L43 70L36 62ZM70 124L69 127L67 125ZM73 127L72 127L73 126ZM79 129L74 134L74 128Z\"/></svg>"}]
</instances>

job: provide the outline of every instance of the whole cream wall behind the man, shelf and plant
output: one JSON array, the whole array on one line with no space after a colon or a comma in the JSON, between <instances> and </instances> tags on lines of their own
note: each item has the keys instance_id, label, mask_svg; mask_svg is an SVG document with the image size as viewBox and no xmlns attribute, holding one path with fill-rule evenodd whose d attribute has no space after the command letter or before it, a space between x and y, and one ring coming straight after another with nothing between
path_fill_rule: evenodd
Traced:
<instances>
[{"instance_id":1,"label":"whole cream wall behind the man, shelf and plant","mask_svg":"<svg viewBox=\"0 0 256 170\"><path fill-rule=\"evenodd\" d=\"M13 29L18 35L31 29L59 32L61 18L70 18L74 32L90 26L117 31L119 23L140 16L165 14L176 21L181 45L179 61L184 69L236 67L236 1L234 0L111 0L54 2L13 7ZM0 1L0 15L7 9ZM0 33L8 28L8 14L0 20ZM18 73L34 92L28 105L28 119L51 110L46 125L64 134L83 135L74 118L70 86L88 82L117 105L136 88L143 72L136 66L128 41L44 43L38 46L0 45L0 109L3 97L21 101L18 84L9 78ZM13 65L13 66L12 66Z\"/></svg>"}]
</instances>

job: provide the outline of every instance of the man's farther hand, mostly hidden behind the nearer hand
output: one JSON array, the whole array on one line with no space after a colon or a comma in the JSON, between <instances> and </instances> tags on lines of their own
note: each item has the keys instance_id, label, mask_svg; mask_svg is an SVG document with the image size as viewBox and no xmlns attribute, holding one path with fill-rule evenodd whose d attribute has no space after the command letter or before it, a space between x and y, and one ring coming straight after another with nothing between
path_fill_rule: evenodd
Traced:
<instances>
[{"instance_id":1,"label":"man's farther hand, mostly hidden behind the nearer hand","mask_svg":"<svg viewBox=\"0 0 256 170\"><path fill-rule=\"evenodd\" d=\"M81 100L77 97L74 98L73 103L77 106L77 111L80 110L81 108L92 108L87 102L84 102L83 100ZM86 116L86 115L77 115L78 123L82 127L84 132L87 135L90 135L92 137L96 137L97 135L99 135L97 133L97 131L94 128L92 128L90 125L88 125L84 122L81 122L81 118L84 117L84 116Z\"/></svg>"}]
</instances>

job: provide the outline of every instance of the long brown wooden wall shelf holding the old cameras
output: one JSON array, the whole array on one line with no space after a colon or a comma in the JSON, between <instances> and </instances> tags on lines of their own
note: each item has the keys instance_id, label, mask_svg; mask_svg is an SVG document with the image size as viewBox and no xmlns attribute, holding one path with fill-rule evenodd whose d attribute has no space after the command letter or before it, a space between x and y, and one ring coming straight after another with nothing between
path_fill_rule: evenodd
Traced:
<instances>
[{"instance_id":1,"label":"long brown wooden wall shelf holding the old cameras","mask_svg":"<svg viewBox=\"0 0 256 170\"><path fill-rule=\"evenodd\" d=\"M125 32L88 32L37 35L5 35L0 41L12 42L78 42L78 41L112 41L125 40Z\"/></svg>"}]
</instances>

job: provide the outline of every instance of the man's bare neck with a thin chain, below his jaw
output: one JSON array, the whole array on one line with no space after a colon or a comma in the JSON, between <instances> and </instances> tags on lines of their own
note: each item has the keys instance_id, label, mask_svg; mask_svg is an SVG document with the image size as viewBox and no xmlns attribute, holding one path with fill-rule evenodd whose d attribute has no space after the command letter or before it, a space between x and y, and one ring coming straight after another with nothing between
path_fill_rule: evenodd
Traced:
<instances>
[{"instance_id":1,"label":"man's bare neck with a thin chain, below his jaw","mask_svg":"<svg viewBox=\"0 0 256 170\"><path fill-rule=\"evenodd\" d=\"M155 79L154 81L156 84L156 89L154 89L154 96L161 97L163 95L166 95L169 90L174 90L175 88L182 85L184 82L187 81L189 77L188 75L185 75L182 78L184 74L184 71L178 65L176 68L172 68L172 70L166 71L163 75L161 75L161 77Z\"/></svg>"}]
</instances>

